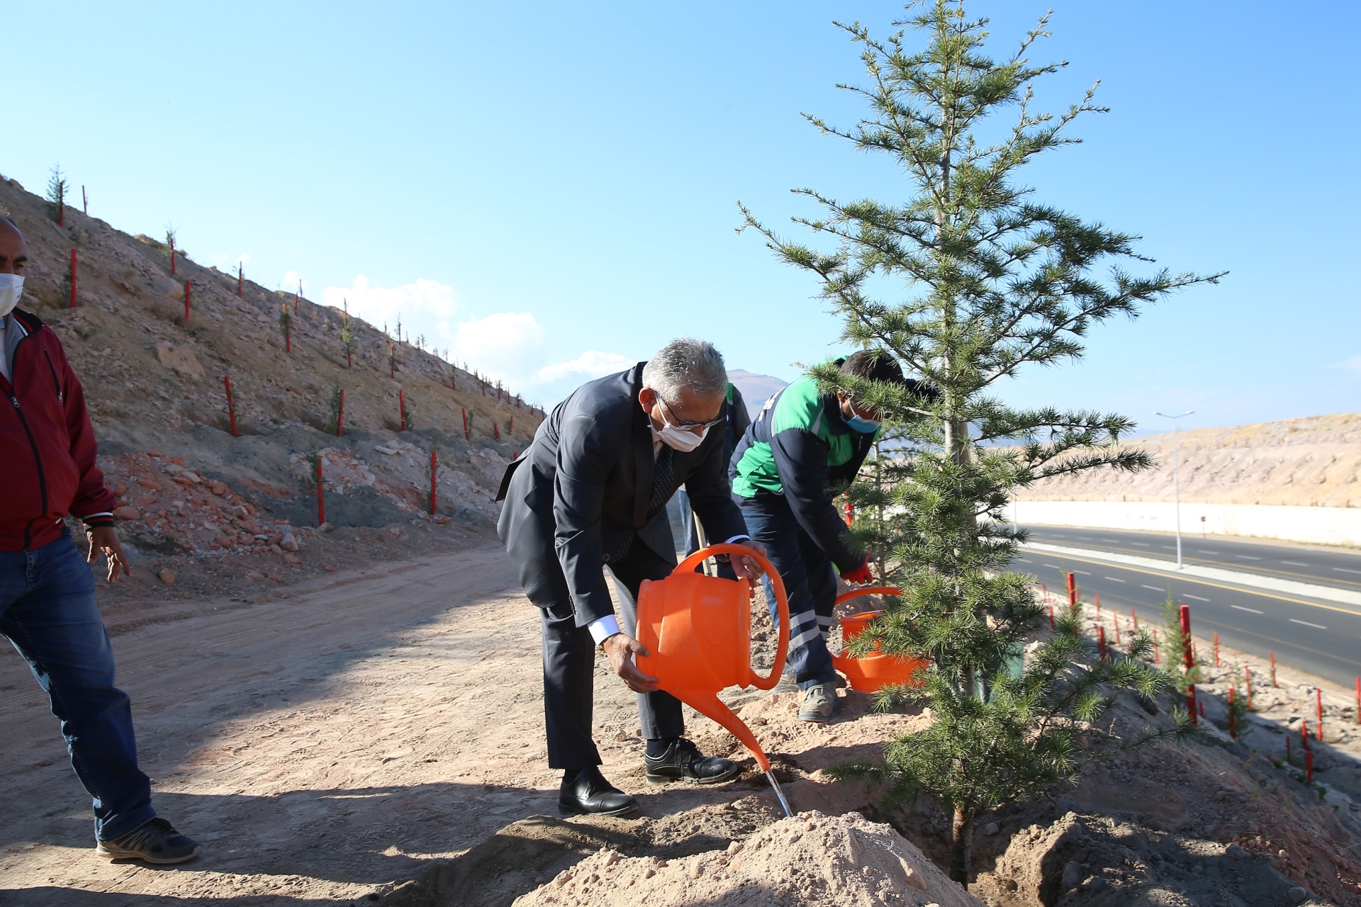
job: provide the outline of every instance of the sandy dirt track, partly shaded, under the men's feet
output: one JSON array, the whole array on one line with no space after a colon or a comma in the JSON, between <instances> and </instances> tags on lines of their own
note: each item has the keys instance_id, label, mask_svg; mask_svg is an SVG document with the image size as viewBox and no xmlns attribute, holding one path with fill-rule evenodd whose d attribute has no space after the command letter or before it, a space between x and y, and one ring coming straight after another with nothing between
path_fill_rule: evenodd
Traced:
<instances>
[{"instance_id":1,"label":"sandy dirt track, partly shaded, under the men's feet","mask_svg":"<svg viewBox=\"0 0 1361 907\"><path fill-rule=\"evenodd\" d=\"M155 805L204 844L201 858L178 868L95 858L88 798L56 719L5 649L0 904L350 904L509 823L553 813L538 616L512 585L504 553L485 547L340 572L274 601L203 602L166 623L143 624L128 611L125 632L112 616ZM604 770L640 795L645 816L701 801L773 801L759 778L702 791L648 787L633 696L603 670ZM851 708L864 713L863 698ZM758 713L792 718L793 703L766 698L747 710L759 734ZM844 812L868 797L826 793L818 767L915 721L781 723L768 749L795 753L776 761L796 808ZM691 733L710 752L742 755L702 718L691 717ZM798 761L810 749L817 755Z\"/></svg>"}]
</instances>

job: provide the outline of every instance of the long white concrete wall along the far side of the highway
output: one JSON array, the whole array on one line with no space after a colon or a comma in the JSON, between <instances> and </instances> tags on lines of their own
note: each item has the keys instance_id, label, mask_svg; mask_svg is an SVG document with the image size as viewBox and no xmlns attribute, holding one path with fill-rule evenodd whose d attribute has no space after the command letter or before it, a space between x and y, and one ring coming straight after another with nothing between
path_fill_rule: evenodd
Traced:
<instances>
[{"instance_id":1,"label":"long white concrete wall along the far side of the highway","mask_svg":"<svg viewBox=\"0 0 1361 907\"><path fill-rule=\"evenodd\" d=\"M1018 500L1007 515L1041 526L1173 532L1172 503L1154 500ZM1253 536L1361 547L1361 507L1273 507L1181 503L1185 536Z\"/></svg>"}]
</instances>

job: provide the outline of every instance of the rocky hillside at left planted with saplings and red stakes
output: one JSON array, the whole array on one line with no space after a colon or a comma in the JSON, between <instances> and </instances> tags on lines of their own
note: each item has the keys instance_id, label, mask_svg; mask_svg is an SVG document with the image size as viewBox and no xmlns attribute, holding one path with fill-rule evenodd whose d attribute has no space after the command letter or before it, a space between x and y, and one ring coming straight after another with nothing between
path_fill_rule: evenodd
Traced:
<instances>
[{"instance_id":1,"label":"rocky hillside at left planted with saplings and red stakes","mask_svg":"<svg viewBox=\"0 0 1361 907\"><path fill-rule=\"evenodd\" d=\"M357 318L347 362L342 311L249 280L238 296L235 275L182 252L171 267L165 243L71 208L59 226L56 211L14 179L0 177L0 208L29 243L22 306L56 330L84 385L135 564L178 582L176 594L250 575L287 582L325 559L286 548L344 547L361 528L396 526L395 538L425 526L416 536L426 548L487 537L502 468L540 422L508 390ZM338 533L309 543L301 528L321 522L317 462L327 529ZM374 549L351 553L365 551Z\"/></svg>"}]
</instances>

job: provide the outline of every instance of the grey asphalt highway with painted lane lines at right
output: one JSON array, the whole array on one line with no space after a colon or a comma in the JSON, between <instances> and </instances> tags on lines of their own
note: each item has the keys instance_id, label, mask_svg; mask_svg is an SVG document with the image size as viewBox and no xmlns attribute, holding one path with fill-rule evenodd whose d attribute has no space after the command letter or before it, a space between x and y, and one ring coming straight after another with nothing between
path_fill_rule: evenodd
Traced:
<instances>
[{"instance_id":1,"label":"grey asphalt highway with painted lane lines at right","mask_svg":"<svg viewBox=\"0 0 1361 907\"><path fill-rule=\"evenodd\" d=\"M1268 653L1275 651L1281 664L1349 688L1361 676L1361 606L1179 574L1176 541L1172 536L1053 526L1029 529L1033 541L1082 548L1090 551L1090 555L1056 555L1022 548L1017 568L1034 574L1051 590L1060 593L1066 574L1071 570L1082 589L1083 601L1101 596L1102 612L1123 615L1121 632L1128 632L1131 609L1138 612L1141 624L1161 624L1161 605L1170 594L1177 604L1191 605L1191 631L1196 636L1209 639L1213 634L1219 634L1222 645L1258 655L1263 668ZM1361 556L1347 552L1230 543L1224 538L1202 543L1185 536L1181 544L1183 558L1188 563L1195 556L1199 560L1194 563L1204 566L1361 589L1361 582L1346 579L1349 574L1334 575L1334 567L1361 570ZM1102 562L1101 551L1166 558L1169 563L1166 570L1120 566ZM1260 560L1239 560L1239 555ZM1249 568L1244 568L1244 564ZM1356 579L1361 581L1361 574ZM1200 658L1210 661L1213 653L1202 651Z\"/></svg>"}]
</instances>

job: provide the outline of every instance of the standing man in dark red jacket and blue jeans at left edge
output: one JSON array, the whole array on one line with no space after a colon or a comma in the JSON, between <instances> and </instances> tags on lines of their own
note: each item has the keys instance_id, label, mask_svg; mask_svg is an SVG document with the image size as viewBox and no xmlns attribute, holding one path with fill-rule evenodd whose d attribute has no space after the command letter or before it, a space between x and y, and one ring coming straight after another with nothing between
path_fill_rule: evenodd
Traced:
<instances>
[{"instance_id":1,"label":"standing man in dark red jacket and blue jeans at left edge","mask_svg":"<svg viewBox=\"0 0 1361 907\"><path fill-rule=\"evenodd\" d=\"M29 252L0 218L0 634L19 650L61 719L71 766L94 797L97 853L178 863L199 844L151 808L137 768L132 703L113 685L113 649L94 601L102 552L109 582L128 572L113 528L114 496L95 465L84 390L57 336L15 309ZM10 405L3 405L8 403ZM90 558L71 541L67 515L86 524Z\"/></svg>"}]
</instances>

